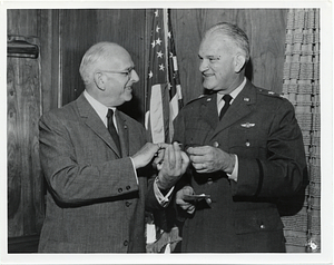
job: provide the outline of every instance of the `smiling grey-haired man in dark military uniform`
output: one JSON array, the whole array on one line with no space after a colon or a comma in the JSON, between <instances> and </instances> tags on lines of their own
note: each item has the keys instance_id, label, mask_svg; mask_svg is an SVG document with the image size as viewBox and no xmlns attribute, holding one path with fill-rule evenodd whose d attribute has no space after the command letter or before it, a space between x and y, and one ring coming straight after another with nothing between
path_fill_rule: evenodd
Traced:
<instances>
[{"instance_id":1,"label":"smiling grey-haired man in dark military uniform","mask_svg":"<svg viewBox=\"0 0 334 265\"><path fill-rule=\"evenodd\" d=\"M183 252L285 252L276 203L294 195L306 173L294 108L245 78L249 45L238 27L212 27L198 56L210 94L185 106L175 125L193 167L176 195L188 217Z\"/></svg>"}]
</instances>

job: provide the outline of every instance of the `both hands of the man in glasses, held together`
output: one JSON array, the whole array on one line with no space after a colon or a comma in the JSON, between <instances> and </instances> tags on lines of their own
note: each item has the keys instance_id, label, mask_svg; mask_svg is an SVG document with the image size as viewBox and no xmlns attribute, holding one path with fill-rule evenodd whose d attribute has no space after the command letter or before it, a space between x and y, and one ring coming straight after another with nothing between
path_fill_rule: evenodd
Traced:
<instances>
[{"instance_id":1,"label":"both hands of the man in glasses, held together","mask_svg":"<svg viewBox=\"0 0 334 265\"><path fill-rule=\"evenodd\" d=\"M157 185L161 190L173 187L189 165L189 158L178 143L171 145L147 143L131 158L136 169L150 163L157 166L159 170Z\"/></svg>"}]
</instances>

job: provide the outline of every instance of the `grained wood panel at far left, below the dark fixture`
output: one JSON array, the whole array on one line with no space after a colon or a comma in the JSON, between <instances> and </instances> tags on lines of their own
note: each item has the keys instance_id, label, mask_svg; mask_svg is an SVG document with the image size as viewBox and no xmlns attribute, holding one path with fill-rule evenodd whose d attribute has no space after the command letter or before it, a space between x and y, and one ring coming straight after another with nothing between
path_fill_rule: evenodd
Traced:
<instances>
[{"instance_id":1,"label":"grained wood panel at far left, below the dark fixture","mask_svg":"<svg viewBox=\"0 0 334 265\"><path fill-rule=\"evenodd\" d=\"M38 43L38 39L30 43ZM9 237L39 234L43 222L38 139L41 115L39 80L39 59L7 59Z\"/></svg>"}]
</instances>

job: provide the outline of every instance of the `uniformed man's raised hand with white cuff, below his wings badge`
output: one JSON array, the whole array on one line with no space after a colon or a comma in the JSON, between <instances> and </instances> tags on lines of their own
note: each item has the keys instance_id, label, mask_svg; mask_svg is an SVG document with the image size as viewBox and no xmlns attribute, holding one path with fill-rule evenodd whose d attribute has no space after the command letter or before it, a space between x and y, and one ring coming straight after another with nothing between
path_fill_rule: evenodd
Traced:
<instances>
[{"instance_id":1,"label":"uniformed man's raised hand with white cuff, below his wings badge","mask_svg":"<svg viewBox=\"0 0 334 265\"><path fill-rule=\"evenodd\" d=\"M227 174L232 174L235 166L235 156L216 147L189 147L187 153L197 173L223 170Z\"/></svg>"}]
</instances>

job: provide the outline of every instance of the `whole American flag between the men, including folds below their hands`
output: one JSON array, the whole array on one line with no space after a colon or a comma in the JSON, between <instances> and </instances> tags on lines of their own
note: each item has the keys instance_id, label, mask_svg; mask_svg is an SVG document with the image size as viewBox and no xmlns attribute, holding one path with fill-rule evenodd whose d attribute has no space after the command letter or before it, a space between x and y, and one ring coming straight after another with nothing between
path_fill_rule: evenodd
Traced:
<instances>
[{"instance_id":1,"label":"whole American flag between the men, including folds below their hands","mask_svg":"<svg viewBox=\"0 0 334 265\"><path fill-rule=\"evenodd\" d=\"M153 143L171 143L173 121L183 107L183 96L170 10L155 10L151 26L145 127ZM171 227L167 216L169 209L147 213L148 253L170 253L181 241L178 227Z\"/></svg>"}]
</instances>

